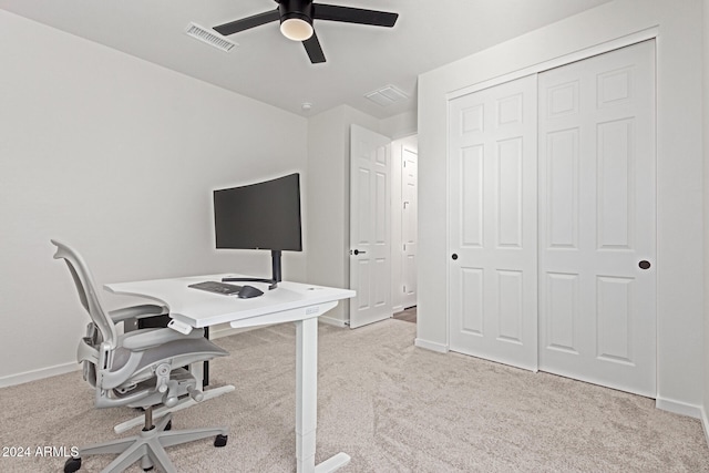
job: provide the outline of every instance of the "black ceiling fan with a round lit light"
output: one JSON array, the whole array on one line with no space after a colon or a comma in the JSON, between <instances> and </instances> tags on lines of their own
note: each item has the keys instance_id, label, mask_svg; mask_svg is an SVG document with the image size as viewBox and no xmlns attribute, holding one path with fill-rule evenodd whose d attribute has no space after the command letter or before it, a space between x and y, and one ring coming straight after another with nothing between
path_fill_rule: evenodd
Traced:
<instances>
[{"instance_id":1,"label":"black ceiling fan with a round lit light","mask_svg":"<svg viewBox=\"0 0 709 473\"><path fill-rule=\"evenodd\" d=\"M325 62L325 53L312 29L314 20L342 21L347 23L370 24L391 28L397 22L399 13L387 11L364 10L360 8L339 7L333 4L314 3L312 0L275 0L276 10L254 14L248 18L214 27L222 35L238 33L239 31L260 27L271 21L280 20L280 32L292 41L302 41L306 52L314 64Z\"/></svg>"}]
</instances>

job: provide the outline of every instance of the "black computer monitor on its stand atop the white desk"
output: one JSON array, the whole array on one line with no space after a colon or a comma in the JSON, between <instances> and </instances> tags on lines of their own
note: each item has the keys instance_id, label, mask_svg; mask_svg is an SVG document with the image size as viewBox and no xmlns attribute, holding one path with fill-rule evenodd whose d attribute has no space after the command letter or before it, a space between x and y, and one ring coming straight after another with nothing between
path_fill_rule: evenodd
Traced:
<instances>
[{"instance_id":1,"label":"black computer monitor on its stand atop the white desk","mask_svg":"<svg viewBox=\"0 0 709 473\"><path fill-rule=\"evenodd\" d=\"M275 287L281 251L302 251L300 175L214 191L214 228L217 248L270 250L271 279L246 280Z\"/></svg>"}]
</instances>

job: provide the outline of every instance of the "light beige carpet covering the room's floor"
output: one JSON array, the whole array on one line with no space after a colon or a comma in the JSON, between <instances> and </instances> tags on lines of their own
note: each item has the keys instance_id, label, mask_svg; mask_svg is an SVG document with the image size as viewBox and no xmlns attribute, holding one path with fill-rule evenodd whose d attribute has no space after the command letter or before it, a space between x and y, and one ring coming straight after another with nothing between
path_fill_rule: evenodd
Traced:
<instances>
[{"instance_id":1,"label":"light beige carpet covering the room's floor","mask_svg":"<svg viewBox=\"0 0 709 473\"><path fill-rule=\"evenodd\" d=\"M353 472L709 472L696 419L655 401L546 373L415 348L415 325L320 327L319 461ZM174 429L226 424L229 443L169 449L181 472L295 471L295 329L217 340L214 384L236 391L175 414ZM2 446L114 439L130 409L96 410L79 373L0 390ZM88 457L97 472L107 457ZM1 456L0 472L62 471L63 457ZM131 472L142 472L134 466Z\"/></svg>"}]
</instances>

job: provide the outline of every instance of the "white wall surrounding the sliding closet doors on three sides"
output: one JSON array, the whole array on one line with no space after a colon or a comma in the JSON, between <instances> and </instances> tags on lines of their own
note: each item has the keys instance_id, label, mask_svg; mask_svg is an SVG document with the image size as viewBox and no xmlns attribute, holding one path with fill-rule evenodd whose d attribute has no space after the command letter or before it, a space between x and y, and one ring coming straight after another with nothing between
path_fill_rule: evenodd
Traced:
<instances>
[{"instance_id":1,"label":"white wall surrounding the sliding closet doors on three sides","mask_svg":"<svg viewBox=\"0 0 709 473\"><path fill-rule=\"evenodd\" d=\"M658 27L658 407L697 415L705 379L701 0L616 0L419 79L421 346L448 347L446 93Z\"/></svg>"}]
</instances>

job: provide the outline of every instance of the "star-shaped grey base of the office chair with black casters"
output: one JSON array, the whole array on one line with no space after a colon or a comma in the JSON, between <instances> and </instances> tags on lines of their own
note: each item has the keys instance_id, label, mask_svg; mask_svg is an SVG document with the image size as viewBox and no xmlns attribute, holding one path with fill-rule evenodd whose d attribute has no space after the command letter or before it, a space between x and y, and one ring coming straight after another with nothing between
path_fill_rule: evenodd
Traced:
<instances>
[{"instance_id":1,"label":"star-shaped grey base of the office chair with black casters","mask_svg":"<svg viewBox=\"0 0 709 473\"><path fill-rule=\"evenodd\" d=\"M86 455L119 454L102 473L119 473L141 461L144 471L158 466L165 473L177 473L173 462L165 452L166 446L179 445L195 440L215 436L214 446L227 443L229 430L227 428L188 429L171 431L172 415L167 414L150 430L127 439L113 440L79 450L79 454L66 460L64 473L73 473L81 467L81 457Z\"/></svg>"}]
</instances>

